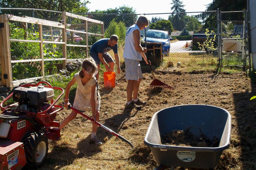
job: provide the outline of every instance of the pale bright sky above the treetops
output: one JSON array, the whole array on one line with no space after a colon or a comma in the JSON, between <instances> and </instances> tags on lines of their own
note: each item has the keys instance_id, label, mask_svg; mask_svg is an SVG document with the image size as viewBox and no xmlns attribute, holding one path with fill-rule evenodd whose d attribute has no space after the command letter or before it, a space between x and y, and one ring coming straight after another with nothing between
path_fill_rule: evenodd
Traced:
<instances>
[{"instance_id":1,"label":"pale bright sky above the treetops","mask_svg":"<svg viewBox=\"0 0 256 170\"><path fill-rule=\"evenodd\" d=\"M90 1L90 0L89 0ZM186 12L201 12L205 11L206 4L211 3L213 0L183 0ZM115 8L119 6L129 6L135 9L138 14L147 13L169 13L171 12L171 0L159 1L139 1L139 0L91 0L87 7L91 11L107 10L108 8Z\"/></svg>"}]
</instances>

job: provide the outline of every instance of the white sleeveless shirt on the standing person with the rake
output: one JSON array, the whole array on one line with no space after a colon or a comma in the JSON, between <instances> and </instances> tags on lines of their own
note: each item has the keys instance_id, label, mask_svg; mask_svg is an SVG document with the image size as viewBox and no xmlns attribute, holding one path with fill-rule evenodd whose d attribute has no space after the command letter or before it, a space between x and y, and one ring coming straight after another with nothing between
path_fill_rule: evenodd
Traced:
<instances>
[{"instance_id":1,"label":"white sleeveless shirt on the standing person with the rake","mask_svg":"<svg viewBox=\"0 0 256 170\"><path fill-rule=\"evenodd\" d=\"M123 57L128 58L130 60L141 61L142 60L141 53L138 52L134 46L133 31L135 31L135 30L140 31L140 28L136 24L132 25L126 31Z\"/></svg>"}]
</instances>

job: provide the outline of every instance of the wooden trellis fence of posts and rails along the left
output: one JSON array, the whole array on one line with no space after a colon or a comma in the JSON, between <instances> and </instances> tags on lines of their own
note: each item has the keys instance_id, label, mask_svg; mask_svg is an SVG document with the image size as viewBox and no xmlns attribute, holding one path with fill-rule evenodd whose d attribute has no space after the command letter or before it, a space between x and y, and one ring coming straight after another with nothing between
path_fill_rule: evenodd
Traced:
<instances>
[{"instance_id":1,"label":"wooden trellis fence of posts and rails along the left","mask_svg":"<svg viewBox=\"0 0 256 170\"><path fill-rule=\"evenodd\" d=\"M74 24L74 25L67 24L67 17L83 20L84 23ZM27 23L38 24L39 39L38 40L10 39L11 31L10 31L9 21L21 22L23 25L25 25L25 28ZM101 25L101 34L88 32L88 26L95 25L95 24ZM54 27L54 28L61 29L62 42L43 40L43 29L42 29L43 25L49 26L51 28ZM76 27L85 27L85 30L84 31L74 30L74 28ZM74 39L74 32L85 34L85 45L67 44L67 31L69 31L71 34L71 40ZM10 14L0 15L0 56L1 56L1 76L2 76L0 85L6 86L6 87L14 87L14 86L18 86L22 82L29 83L38 79L45 78L45 70L44 70L45 61L57 61L57 60L62 61L63 68L65 68L66 61L68 59L67 46L86 48L86 56L88 56L88 47L90 47L88 45L88 35L101 36L103 38L104 37L103 32L104 32L103 21L93 20L90 18L86 18L84 16L80 16L80 15L76 15L68 12L62 12L62 19L60 22L31 18L28 16L20 17L20 16L14 16ZM37 59L31 58L30 60L11 60L11 49L10 49L11 42L39 43L40 56ZM62 58L44 58L43 44L49 44L49 43L62 45L62 55L63 55ZM40 62L41 66L40 66L40 69L38 69L38 71L39 70L41 71L42 77L13 81L12 63L25 63L25 62Z\"/></svg>"}]
</instances>

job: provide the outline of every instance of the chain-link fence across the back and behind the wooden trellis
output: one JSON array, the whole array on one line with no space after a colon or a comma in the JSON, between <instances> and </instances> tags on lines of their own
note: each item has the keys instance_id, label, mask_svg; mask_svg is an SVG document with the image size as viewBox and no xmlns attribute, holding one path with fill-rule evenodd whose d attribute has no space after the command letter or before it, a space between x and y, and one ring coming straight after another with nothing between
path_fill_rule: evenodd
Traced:
<instances>
[{"instance_id":1,"label":"chain-link fence across the back and behind the wooden trellis","mask_svg":"<svg viewBox=\"0 0 256 170\"><path fill-rule=\"evenodd\" d=\"M17 16L35 17L49 21L59 22L61 20L61 12L34 10L34 9L13 9L0 8L0 14L12 14ZM135 23L139 14L78 14L86 18L99 20L104 22L104 36L109 38L113 34L117 34L118 54L123 60L123 49L125 42L126 30ZM162 64L164 66L205 66L217 65L219 58L219 50L222 54L222 65L243 65L243 53L246 54L246 35L241 35L241 29L246 30L245 14L244 12L227 12L221 13L221 21L219 21L218 12L189 12L189 13L159 13L159 14L145 14L150 21L149 27L141 31L142 46L147 46L149 49L147 57L154 61L153 64ZM221 28L218 33L218 23ZM67 17L68 29L77 30L74 34L67 31L68 44L86 45L86 35L79 33L79 31L86 31L86 23L83 20ZM242 26L241 26L242 25ZM20 39L37 39L38 25L25 25L27 31L23 31L20 35L18 32L22 30L22 23L11 23L11 38L16 35ZM88 35L88 45L91 47L95 41L99 40L101 36L97 34L102 33L100 25L87 25L87 32L93 32L95 35ZM15 28L15 29L14 29ZM236 31L236 32L234 32ZM14 33L13 33L14 32ZM43 38L49 41L62 41L61 30L53 27L43 27ZM244 33L246 34L246 32ZM22 36L21 36L22 35ZM30 35L30 36L29 36ZM220 45L218 47L218 35ZM27 37L26 37L27 36ZM242 37L242 38L241 38ZM232 38L229 40L229 38ZM234 39L235 38L235 39ZM145 45L145 40L147 41ZM228 49L228 45L236 44L236 50ZM223 45L222 45L223 44ZM228 45L227 45L228 44ZM242 48L241 48L242 46ZM33 50L30 49L33 47ZM36 43L11 43L12 60L25 60L25 58L35 59L39 56L39 45ZM21 50L22 49L22 50ZM244 49L244 50L243 50ZM90 48L89 48L90 50ZM236 52L236 54L230 54ZM112 50L109 54L114 58ZM59 44L47 44L44 46L45 57L62 57L62 46ZM67 47L67 58L85 58L86 48L84 47ZM234 62L234 58L236 63ZM46 63L45 66L49 70L47 74L52 74L52 71L57 70L57 64L61 61L52 61ZM243 64L242 64L243 63ZM13 77L17 80L35 77L35 71L26 74L26 70L38 70L40 63L12 63ZM15 68L17 68L15 70ZM23 74L21 72L24 72ZM38 76L40 76L37 71ZM15 74L15 75L14 75ZM36 75L37 76L37 75Z\"/></svg>"}]
</instances>

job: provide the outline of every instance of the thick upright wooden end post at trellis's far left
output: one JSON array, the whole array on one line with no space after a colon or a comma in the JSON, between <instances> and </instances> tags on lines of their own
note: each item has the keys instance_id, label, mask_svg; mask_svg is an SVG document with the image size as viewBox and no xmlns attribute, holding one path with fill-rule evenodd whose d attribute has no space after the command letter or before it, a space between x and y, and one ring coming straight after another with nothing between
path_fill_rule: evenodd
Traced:
<instances>
[{"instance_id":1,"label":"thick upright wooden end post at trellis's far left","mask_svg":"<svg viewBox=\"0 0 256 170\"><path fill-rule=\"evenodd\" d=\"M10 15L4 15L2 18L2 21L4 23L4 28L3 28L3 44L4 44L4 58L5 58L4 65L5 65L5 73L7 74L6 87L11 87L11 82L12 82L9 16Z\"/></svg>"}]
</instances>

